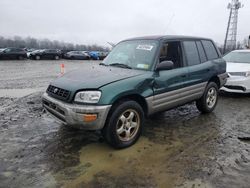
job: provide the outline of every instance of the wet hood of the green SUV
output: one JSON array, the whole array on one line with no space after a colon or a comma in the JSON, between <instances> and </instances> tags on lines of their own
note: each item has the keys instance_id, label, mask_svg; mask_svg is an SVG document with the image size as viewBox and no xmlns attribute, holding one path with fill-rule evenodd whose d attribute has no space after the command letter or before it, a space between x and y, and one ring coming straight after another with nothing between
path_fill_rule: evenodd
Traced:
<instances>
[{"instance_id":1,"label":"wet hood of the green SUV","mask_svg":"<svg viewBox=\"0 0 250 188\"><path fill-rule=\"evenodd\" d=\"M104 85L143 73L145 71L88 64L79 70L68 72L57 78L51 85L75 92L82 89L98 89Z\"/></svg>"}]
</instances>

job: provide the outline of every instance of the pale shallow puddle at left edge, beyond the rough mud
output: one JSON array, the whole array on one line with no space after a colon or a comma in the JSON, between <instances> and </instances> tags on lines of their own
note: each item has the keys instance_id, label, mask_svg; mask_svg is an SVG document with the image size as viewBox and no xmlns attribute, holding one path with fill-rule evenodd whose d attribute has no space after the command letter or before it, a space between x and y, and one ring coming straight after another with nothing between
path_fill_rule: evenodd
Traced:
<instances>
[{"instance_id":1,"label":"pale shallow puddle at left edge, beyond the rough mud","mask_svg":"<svg viewBox=\"0 0 250 188\"><path fill-rule=\"evenodd\" d=\"M35 92L45 91L46 88L26 88L26 89L0 89L0 97L21 98Z\"/></svg>"}]
</instances>

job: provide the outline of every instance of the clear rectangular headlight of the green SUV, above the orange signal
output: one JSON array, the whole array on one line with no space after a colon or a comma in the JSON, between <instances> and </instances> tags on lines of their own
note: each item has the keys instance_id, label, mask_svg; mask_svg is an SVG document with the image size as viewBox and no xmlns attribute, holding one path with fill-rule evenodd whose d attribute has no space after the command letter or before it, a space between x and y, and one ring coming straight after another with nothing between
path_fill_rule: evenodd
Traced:
<instances>
[{"instance_id":1,"label":"clear rectangular headlight of the green SUV, above the orange signal","mask_svg":"<svg viewBox=\"0 0 250 188\"><path fill-rule=\"evenodd\" d=\"M96 104L101 98L100 91L81 91L75 96L75 102Z\"/></svg>"}]
</instances>

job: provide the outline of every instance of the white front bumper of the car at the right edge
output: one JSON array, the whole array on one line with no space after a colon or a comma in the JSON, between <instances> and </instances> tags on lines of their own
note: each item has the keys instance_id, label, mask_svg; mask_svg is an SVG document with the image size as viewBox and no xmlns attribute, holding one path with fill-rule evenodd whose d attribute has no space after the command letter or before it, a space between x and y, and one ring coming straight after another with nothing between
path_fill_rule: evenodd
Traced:
<instances>
[{"instance_id":1,"label":"white front bumper of the car at the right edge","mask_svg":"<svg viewBox=\"0 0 250 188\"><path fill-rule=\"evenodd\" d=\"M232 93L250 93L250 77L230 76L221 90Z\"/></svg>"}]
</instances>

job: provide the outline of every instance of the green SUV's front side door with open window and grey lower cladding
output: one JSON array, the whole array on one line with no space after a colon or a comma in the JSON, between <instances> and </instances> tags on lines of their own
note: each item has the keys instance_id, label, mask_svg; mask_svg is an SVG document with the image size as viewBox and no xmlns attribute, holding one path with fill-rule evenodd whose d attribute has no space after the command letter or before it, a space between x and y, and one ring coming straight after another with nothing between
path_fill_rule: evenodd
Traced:
<instances>
[{"instance_id":1,"label":"green SUV's front side door with open window and grey lower cladding","mask_svg":"<svg viewBox=\"0 0 250 188\"><path fill-rule=\"evenodd\" d=\"M167 110L182 103L180 93L183 92L183 82L188 74L188 70L183 66L182 60L183 55L179 41L171 41L163 44L160 51L159 63L172 61L174 68L155 73L152 101L153 112Z\"/></svg>"}]
</instances>

